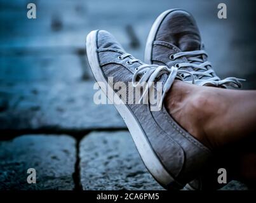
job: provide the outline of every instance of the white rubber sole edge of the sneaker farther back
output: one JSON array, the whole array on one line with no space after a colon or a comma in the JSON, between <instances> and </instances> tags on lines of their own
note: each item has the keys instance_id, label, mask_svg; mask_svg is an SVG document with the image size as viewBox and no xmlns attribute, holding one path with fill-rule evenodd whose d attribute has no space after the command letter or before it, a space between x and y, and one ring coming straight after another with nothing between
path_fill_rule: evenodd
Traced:
<instances>
[{"instance_id":1,"label":"white rubber sole edge of the sneaker farther back","mask_svg":"<svg viewBox=\"0 0 256 203\"><path fill-rule=\"evenodd\" d=\"M149 36L147 36L147 43L145 44L145 52L144 52L144 62L147 64L152 64L152 47L153 42L156 37L156 32L158 32L159 25L163 22L163 19L166 15L171 13L172 11L179 10L179 9L171 9L164 11L161 13L158 18L156 18L155 22L153 23L151 30L149 31Z\"/></svg>"}]
</instances>

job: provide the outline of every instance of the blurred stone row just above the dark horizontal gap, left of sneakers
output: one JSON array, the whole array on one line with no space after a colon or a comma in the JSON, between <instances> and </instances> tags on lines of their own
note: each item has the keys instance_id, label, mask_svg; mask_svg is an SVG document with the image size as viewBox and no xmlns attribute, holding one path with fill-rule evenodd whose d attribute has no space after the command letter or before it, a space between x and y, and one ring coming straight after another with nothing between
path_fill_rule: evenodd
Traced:
<instances>
[{"instance_id":1,"label":"blurred stone row just above the dark horizontal gap, left of sneakers","mask_svg":"<svg viewBox=\"0 0 256 203\"><path fill-rule=\"evenodd\" d=\"M113 105L93 102L94 82L0 86L0 129L81 131L126 128Z\"/></svg>"}]
</instances>

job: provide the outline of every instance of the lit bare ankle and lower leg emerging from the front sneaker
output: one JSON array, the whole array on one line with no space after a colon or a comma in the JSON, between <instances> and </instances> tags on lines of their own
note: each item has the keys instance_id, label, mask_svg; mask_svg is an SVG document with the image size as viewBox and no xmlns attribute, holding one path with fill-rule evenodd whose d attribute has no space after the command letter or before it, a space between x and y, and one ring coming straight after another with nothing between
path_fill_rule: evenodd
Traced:
<instances>
[{"instance_id":1,"label":"lit bare ankle and lower leg emerging from the front sneaker","mask_svg":"<svg viewBox=\"0 0 256 203\"><path fill-rule=\"evenodd\" d=\"M239 109L241 103L246 102L243 94L248 96L248 91L244 92L246 91L175 81L166 95L165 107L185 130L207 147L214 149L238 141L254 128L252 124L246 126L247 122L241 122L250 117L245 110ZM255 95L255 91L252 92ZM233 105L234 101L240 103L238 107ZM234 111L239 116L234 116Z\"/></svg>"}]
</instances>

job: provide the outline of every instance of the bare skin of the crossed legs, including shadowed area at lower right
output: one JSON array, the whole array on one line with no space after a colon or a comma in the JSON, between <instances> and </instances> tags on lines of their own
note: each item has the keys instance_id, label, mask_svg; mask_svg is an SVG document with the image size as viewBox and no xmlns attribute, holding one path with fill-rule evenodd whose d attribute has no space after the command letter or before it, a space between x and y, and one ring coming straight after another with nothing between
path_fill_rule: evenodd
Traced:
<instances>
[{"instance_id":1,"label":"bare skin of the crossed legs, including shadowed area at lower right","mask_svg":"<svg viewBox=\"0 0 256 203\"><path fill-rule=\"evenodd\" d=\"M254 185L256 91L175 81L166 95L165 107L201 143L227 152L222 157L234 177Z\"/></svg>"}]
</instances>

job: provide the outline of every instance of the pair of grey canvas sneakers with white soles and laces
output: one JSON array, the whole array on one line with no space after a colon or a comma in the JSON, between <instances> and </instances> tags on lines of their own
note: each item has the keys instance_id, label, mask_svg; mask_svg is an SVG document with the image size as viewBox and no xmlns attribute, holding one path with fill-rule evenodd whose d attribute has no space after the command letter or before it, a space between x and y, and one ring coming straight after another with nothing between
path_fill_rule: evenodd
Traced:
<instances>
[{"instance_id":1,"label":"pair of grey canvas sneakers with white soles and laces","mask_svg":"<svg viewBox=\"0 0 256 203\"><path fill-rule=\"evenodd\" d=\"M152 176L167 189L189 182L187 188L202 189L203 180L196 178L212 166L214 156L168 114L163 99L175 79L220 88L240 88L241 83L234 77L220 80L215 74L192 15L176 9L158 16L147 38L145 63L126 53L105 30L88 34L86 53L98 85L123 117ZM115 88L119 82L132 88ZM138 102L130 96L134 89L143 90ZM158 110L152 110L151 92L160 95ZM141 104L142 100L146 102Z\"/></svg>"}]
</instances>

